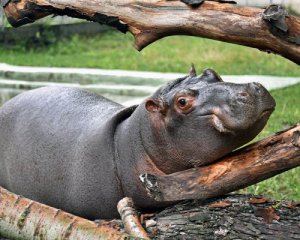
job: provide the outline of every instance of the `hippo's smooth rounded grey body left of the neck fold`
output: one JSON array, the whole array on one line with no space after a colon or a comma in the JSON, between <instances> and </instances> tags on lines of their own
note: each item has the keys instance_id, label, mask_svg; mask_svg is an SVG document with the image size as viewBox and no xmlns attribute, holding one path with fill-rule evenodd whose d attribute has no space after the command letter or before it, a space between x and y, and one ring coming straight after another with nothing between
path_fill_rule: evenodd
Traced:
<instances>
[{"instance_id":1,"label":"hippo's smooth rounded grey body left of the neck fold","mask_svg":"<svg viewBox=\"0 0 300 240\"><path fill-rule=\"evenodd\" d=\"M99 204L120 198L110 189L118 189L111 174L113 135L123 109L76 88L46 87L15 97L0 110L0 185L92 218ZM102 181L111 188L95 192Z\"/></svg>"}]
</instances>

